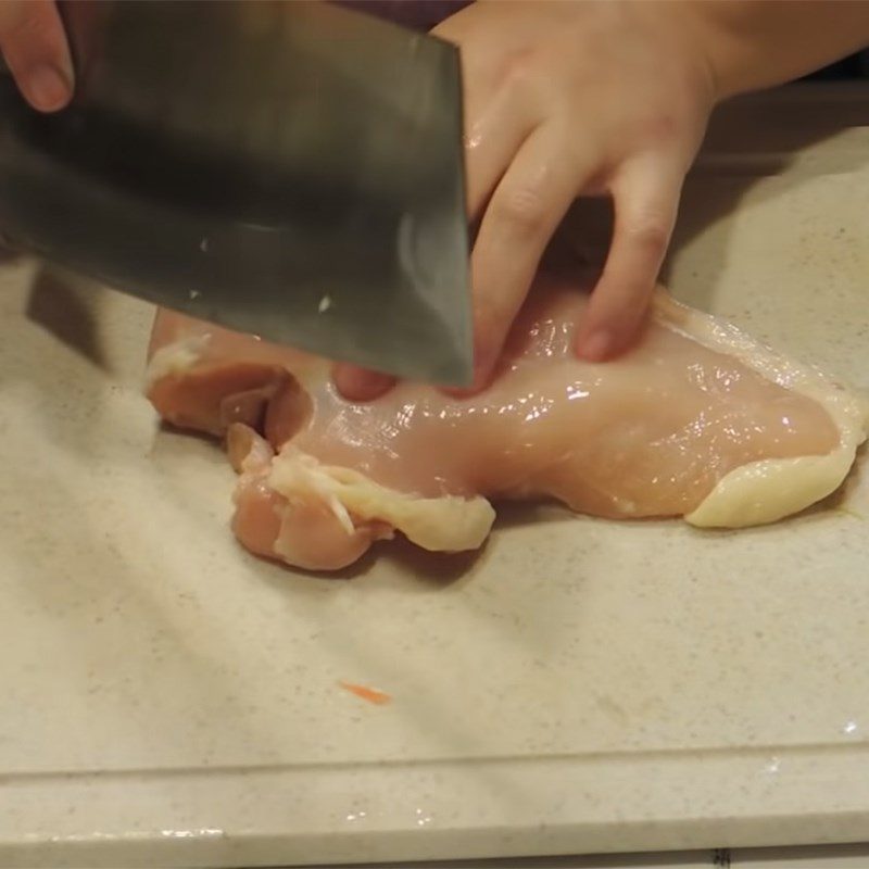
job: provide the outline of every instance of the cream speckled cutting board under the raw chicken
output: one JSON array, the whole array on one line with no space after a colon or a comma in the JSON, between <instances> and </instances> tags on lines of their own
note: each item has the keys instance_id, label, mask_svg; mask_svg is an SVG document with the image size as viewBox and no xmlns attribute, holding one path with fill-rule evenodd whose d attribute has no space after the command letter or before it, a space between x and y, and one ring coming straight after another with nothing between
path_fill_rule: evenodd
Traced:
<instances>
[{"instance_id":1,"label":"cream speckled cutting board under the raw chicken","mask_svg":"<svg viewBox=\"0 0 869 869\"><path fill-rule=\"evenodd\" d=\"M869 388L867 91L813 93L714 130L670 284ZM237 547L219 451L158 430L149 317L0 267L0 865L867 835L865 459L772 528L513 508L477 559L314 579Z\"/></svg>"}]
</instances>

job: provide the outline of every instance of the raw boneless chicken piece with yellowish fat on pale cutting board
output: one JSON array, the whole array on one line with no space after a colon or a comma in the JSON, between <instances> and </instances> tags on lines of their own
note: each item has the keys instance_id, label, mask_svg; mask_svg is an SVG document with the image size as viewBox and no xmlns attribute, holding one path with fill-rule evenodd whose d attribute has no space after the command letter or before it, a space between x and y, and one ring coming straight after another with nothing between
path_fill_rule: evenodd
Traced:
<instances>
[{"instance_id":1,"label":"raw boneless chicken piece with yellowish fat on pale cutting board","mask_svg":"<svg viewBox=\"0 0 869 869\"><path fill-rule=\"evenodd\" d=\"M483 393L402 383L368 404L341 399L322 360L162 311L148 392L169 423L227 436L239 540L307 569L351 564L396 530L429 550L478 547L489 499L739 527L842 482L866 436L861 401L663 290L635 349L581 362L584 304L542 277Z\"/></svg>"}]
</instances>

